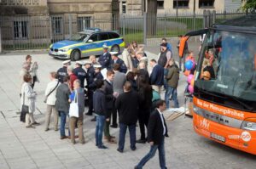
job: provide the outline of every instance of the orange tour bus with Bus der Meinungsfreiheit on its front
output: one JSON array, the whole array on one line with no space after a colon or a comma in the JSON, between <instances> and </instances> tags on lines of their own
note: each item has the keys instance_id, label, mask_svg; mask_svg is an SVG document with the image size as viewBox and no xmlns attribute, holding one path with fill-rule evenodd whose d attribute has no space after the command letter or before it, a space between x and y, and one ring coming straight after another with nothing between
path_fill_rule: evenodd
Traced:
<instances>
[{"instance_id":1,"label":"orange tour bus with Bus der Meinungsfreiheit on its front","mask_svg":"<svg viewBox=\"0 0 256 169\"><path fill-rule=\"evenodd\" d=\"M204 37L195 71L195 132L256 155L256 14L187 33L180 56L193 36Z\"/></svg>"}]
</instances>

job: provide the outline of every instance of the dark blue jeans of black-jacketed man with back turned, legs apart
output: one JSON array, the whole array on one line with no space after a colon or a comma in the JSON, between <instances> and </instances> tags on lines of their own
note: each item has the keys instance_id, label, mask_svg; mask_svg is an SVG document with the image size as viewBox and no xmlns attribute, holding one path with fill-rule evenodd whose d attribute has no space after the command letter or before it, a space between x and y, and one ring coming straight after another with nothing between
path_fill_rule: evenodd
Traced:
<instances>
[{"instance_id":1,"label":"dark blue jeans of black-jacketed man with back turned, legs apart","mask_svg":"<svg viewBox=\"0 0 256 169\"><path fill-rule=\"evenodd\" d=\"M134 125L125 125L123 123L119 123L119 150L124 150L125 147L125 133L127 130L127 127L129 128L130 132L130 144L131 149L136 149L136 124Z\"/></svg>"}]
</instances>

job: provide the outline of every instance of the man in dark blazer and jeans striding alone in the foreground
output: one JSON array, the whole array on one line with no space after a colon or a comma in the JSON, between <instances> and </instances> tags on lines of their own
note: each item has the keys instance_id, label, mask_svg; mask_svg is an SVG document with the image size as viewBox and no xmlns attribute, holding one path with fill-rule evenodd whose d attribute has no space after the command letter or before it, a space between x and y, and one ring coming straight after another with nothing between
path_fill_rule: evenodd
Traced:
<instances>
[{"instance_id":1,"label":"man in dark blazer and jeans striding alone in the foreground","mask_svg":"<svg viewBox=\"0 0 256 169\"><path fill-rule=\"evenodd\" d=\"M145 155L137 166L134 167L135 169L143 168L143 166L154 157L157 149L159 151L160 168L166 168L165 137L168 137L168 131L163 115L164 110L166 110L166 102L159 100L148 122L148 142L151 146L150 150L148 155Z\"/></svg>"}]
</instances>

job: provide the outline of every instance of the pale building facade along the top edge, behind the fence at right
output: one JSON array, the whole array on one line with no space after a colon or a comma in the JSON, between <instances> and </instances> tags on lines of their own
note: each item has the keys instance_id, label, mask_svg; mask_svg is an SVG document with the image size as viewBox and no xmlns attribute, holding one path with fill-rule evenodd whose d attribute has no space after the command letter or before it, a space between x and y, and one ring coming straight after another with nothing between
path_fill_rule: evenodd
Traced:
<instances>
[{"instance_id":1,"label":"pale building facade along the top edge, behind the fence at right","mask_svg":"<svg viewBox=\"0 0 256 169\"><path fill-rule=\"evenodd\" d=\"M205 9L216 11L236 11L241 0L155 0L158 14L195 13L202 14ZM147 10L147 0L119 0L120 14L142 14Z\"/></svg>"}]
</instances>

